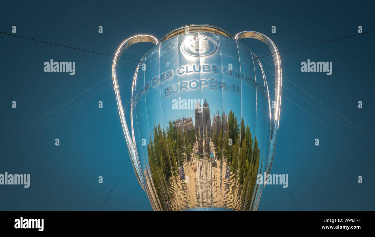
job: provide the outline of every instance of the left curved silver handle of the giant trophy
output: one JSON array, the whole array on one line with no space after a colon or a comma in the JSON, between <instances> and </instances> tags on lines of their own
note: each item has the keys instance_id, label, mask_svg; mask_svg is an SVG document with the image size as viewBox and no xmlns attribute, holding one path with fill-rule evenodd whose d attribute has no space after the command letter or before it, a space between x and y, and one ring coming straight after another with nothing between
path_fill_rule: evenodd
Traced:
<instances>
[{"instance_id":1,"label":"left curved silver handle of the giant trophy","mask_svg":"<svg viewBox=\"0 0 375 237\"><path fill-rule=\"evenodd\" d=\"M122 129L125 135L126 143L127 143L127 148L129 150L129 156L132 159L132 164L133 168L135 170L135 174L138 178L139 183L141 184L142 188L144 189L144 180L143 180L143 175L141 172L141 167L139 163L139 158L138 158L138 152L136 150L135 146L135 139L134 135L131 137L129 133L129 128L127 127L127 123L125 120L125 113L124 113L124 108L122 106L122 101L121 101L121 96L120 96L120 89L118 88L118 81L117 81L117 65L118 65L118 60L120 59L120 55L123 53L123 51L130 45L139 43L139 42L150 42L153 43L154 45L157 45L158 40L151 35L147 34L140 34L136 35L133 37L130 37L129 39L125 40L121 45L118 47L114 58L113 58L113 63L112 63L112 80L113 80L113 86L116 94L116 101L117 101L117 108L118 108L118 113L120 114L120 119L121 119L121 125ZM139 63L141 63L139 61ZM132 83L132 93L133 93L133 87L134 85L134 78L136 74L133 77L133 83ZM131 105L132 106L132 105ZM131 117L132 119L132 117ZM133 121L131 121L131 128L133 131Z\"/></svg>"}]
</instances>

